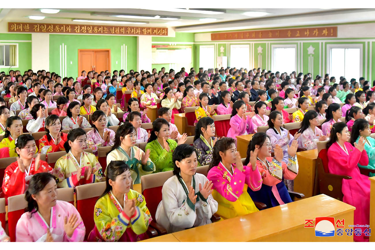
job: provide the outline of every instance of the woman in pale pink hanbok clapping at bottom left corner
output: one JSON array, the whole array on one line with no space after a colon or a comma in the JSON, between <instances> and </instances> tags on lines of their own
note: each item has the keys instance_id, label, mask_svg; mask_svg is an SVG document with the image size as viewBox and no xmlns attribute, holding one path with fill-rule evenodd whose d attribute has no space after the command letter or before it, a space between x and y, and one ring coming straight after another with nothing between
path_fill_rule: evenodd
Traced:
<instances>
[{"instance_id":1,"label":"woman in pale pink hanbok clapping at bottom left corner","mask_svg":"<svg viewBox=\"0 0 375 250\"><path fill-rule=\"evenodd\" d=\"M77 209L69 202L57 200L57 184L50 173L37 173L26 191L27 212L16 226L16 241L78 242L86 229Z\"/></svg>"}]
</instances>

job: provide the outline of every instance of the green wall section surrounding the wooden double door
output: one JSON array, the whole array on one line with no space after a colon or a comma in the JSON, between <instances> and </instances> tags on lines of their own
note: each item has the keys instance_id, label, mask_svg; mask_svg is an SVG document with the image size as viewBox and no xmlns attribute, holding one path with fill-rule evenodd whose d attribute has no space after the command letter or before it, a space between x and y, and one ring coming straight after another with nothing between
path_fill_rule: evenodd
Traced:
<instances>
[{"instance_id":1,"label":"green wall section surrounding the wooden double door","mask_svg":"<svg viewBox=\"0 0 375 250\"><path fill-rule=\"evenodd\" d=\"M121 46L127 46L126 68L136 69L137 38L135 36L49 35L49 71L60 72L60 45L66 45L66 74L74 79L78 73L78 49L110 49L111 69L121 68ZM70 63L72 62L72 64ZM117 62L117 63L116 63ZM125 69L124 69L125 70Z\"/></svg>"}]
</instances>

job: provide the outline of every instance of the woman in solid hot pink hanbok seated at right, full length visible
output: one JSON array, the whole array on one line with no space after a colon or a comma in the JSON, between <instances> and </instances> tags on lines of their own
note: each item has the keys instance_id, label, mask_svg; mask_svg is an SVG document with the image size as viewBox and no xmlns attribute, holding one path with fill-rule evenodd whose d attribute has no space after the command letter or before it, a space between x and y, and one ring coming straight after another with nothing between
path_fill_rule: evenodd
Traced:
<instances>
[{"instance_id":1,"label":"woman in solid hot pink hanbok seated at right, full length visible","mask_svg":"<svg viewBox=\"0 0 375 250\"><path fill-rule=\"evenodd\" d=\"M343 202L355 206L354 225L368 225L370 218L370 181L369 177L362 175L358 164L367 166L369 158L365 147L365 139L361 137L358 144L349 143L350 133L344 122L337 122L333 125L330 141L327 143L328 169L335 175L348 175L351 179L342 179ZM368 241L363 227L353 227L360 229L362 235L353 235L354 241Z\"/></svg>"}]
</instances>

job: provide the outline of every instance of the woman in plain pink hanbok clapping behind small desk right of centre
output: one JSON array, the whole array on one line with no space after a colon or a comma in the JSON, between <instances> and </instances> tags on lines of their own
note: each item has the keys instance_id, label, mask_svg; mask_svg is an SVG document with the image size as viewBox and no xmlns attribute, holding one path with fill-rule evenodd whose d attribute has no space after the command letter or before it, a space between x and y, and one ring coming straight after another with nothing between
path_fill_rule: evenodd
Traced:
<instances>
[{"instance_id":1,"label":"woman in plain pink hanbok clapping behind small desk right of centre","mask_svg":"<svg viewBox=\"0 0 375 250\"><path fill-rule=\"evenodd\" d=\"M239 100L234 102L231 120L229 121L231 128L228 130L227 137L232 137L235 140L236 145L236 136L254 133L252 117L254 117L255 113L250 112L249 114L246 114L246 111L246 104L244 101Z\"/></svg>"}]
</instances>

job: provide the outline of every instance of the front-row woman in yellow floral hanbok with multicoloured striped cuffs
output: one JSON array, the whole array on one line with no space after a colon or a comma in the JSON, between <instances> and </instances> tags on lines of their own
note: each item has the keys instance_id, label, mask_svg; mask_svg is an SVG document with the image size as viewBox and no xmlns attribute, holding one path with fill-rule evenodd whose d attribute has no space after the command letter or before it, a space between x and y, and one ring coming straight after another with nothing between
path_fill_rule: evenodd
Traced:
<instances>
[{"instance_id":1,"label":"front-row woman in yellow floral hanbok with multicoloured striped cuffs","mask_svg":"<svg viewBox=\"0 0 375 250\"><path fill-rule=\"evenodd\" d=\"M107 167L106 188L94 208L95 227L88 241L140 241L152 221L144 196L130 189L132 177L124 161Z\"/></svg>"}]
</instances>

